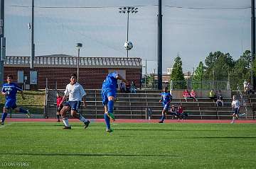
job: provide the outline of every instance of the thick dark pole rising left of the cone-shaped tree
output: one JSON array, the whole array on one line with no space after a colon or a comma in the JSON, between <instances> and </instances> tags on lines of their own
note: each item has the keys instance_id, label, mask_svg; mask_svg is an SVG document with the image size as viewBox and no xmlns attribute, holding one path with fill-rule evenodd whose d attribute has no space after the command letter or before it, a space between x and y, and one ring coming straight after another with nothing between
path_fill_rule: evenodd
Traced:
<instances>
[{"instance_id":1,"label":"thick dark pole rising left of the cone-shaped tree","mask_svg":"<svg viewBox=\"0 0 256 169\"><path fill-rule=\"evenodd\" d=\"M159 0L159 13L158 13L158 25L157 25L157 78L158 78L158 89L161 90L162 88L162 14L161 14L161 0Z\"/></svg>"}]
</instances>

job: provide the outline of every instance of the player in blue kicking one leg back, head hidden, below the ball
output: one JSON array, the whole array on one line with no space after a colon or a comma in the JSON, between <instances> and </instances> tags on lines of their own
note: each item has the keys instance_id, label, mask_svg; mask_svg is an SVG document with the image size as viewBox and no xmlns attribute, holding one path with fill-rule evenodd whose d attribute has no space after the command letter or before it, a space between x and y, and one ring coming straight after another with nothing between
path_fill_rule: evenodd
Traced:
<instances>
[{"instance_id":1,"label":"player in blue kicking one leg back, head hidden, below the ball","mask_svg":"<svg viewBox=\"0 0 256 169\"><path fill-rule=\"evenodd\" d=\"M110 128L110 119L114 121L114 98L116 98L117 93L117 80L121 80L124 83L127 81L122 78L117 72L112 72L107 74L107 77L102 83L102 104L104 106L104 119L107 126L107 132L112 132Z\"/></svg>"}]
</instances>

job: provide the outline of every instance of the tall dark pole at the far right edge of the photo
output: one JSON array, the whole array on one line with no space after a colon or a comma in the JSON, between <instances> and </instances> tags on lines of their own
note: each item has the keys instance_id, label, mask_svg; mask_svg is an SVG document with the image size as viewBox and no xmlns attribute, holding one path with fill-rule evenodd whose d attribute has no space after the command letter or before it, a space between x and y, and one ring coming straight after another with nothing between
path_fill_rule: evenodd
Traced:
<instances>
[{"instance_id":1,"label":"tall dark pole at the far right edge of the photo","mask_svg":"<svg viewBox=\"0 0 256 169\"><path fill-rule=\"evenodd\" d=\"M253 72L253 62L255 61L255 0L251 1L251 84L253 86L252 90L255 90L256 81L255 73Z\"/></svg>"}]
</instances>

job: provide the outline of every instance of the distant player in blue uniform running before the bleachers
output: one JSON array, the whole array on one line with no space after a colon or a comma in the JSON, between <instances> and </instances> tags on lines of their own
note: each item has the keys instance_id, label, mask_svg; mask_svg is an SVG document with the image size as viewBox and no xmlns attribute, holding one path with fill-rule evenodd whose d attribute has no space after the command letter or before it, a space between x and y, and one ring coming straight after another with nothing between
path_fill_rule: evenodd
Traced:
<instances>
[{"instance_id":1,"label":"distant player in blue uniform running before the bleachers","mask_svg":"<svg viewBox=\"0 0 256 169\"><path fill-rule=\"evenodd\" d=\"M161 121L159 121L159 123L164 122L164 118L166 117L166 113L168 112L171 99L172 99L172 96L171 96L170 93L168 93L167 87L164 87L163 88L163 93L161 93L161 99L159 100L159 102L163 103L163 107L164 107L163 110L162 110Z\"/></svg>"}]
</instances>

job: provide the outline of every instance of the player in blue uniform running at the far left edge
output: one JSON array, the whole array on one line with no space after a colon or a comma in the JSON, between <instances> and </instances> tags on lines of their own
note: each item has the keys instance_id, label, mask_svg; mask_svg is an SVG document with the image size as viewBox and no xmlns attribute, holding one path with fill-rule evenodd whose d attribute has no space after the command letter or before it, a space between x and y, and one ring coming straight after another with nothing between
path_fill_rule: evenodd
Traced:
<instances>
[{"instance_id":1,"label":"player in blue uniform running at the far left edge","mask_svg":"<svg viewBox=\"0 0 256 169\"><path fill-rule=\"evenodd\" d=\"M8 75L6 78L7 83L4 83L2 86L1 94L5 95L6 102L4 104L4 112L1 116L1 124L4 125L4 120L6 119L6 116L8 115L8 111L13 109L16 112L26 113L28 117L30 117L30 113L28 110L24 110L21 107L17 107L16 105L16 93L18 91L21 92L21 97L23 99L26 99L23 95L23 91L16 83L12 83L13 76Z\"/></svg>"}]
</instances>

